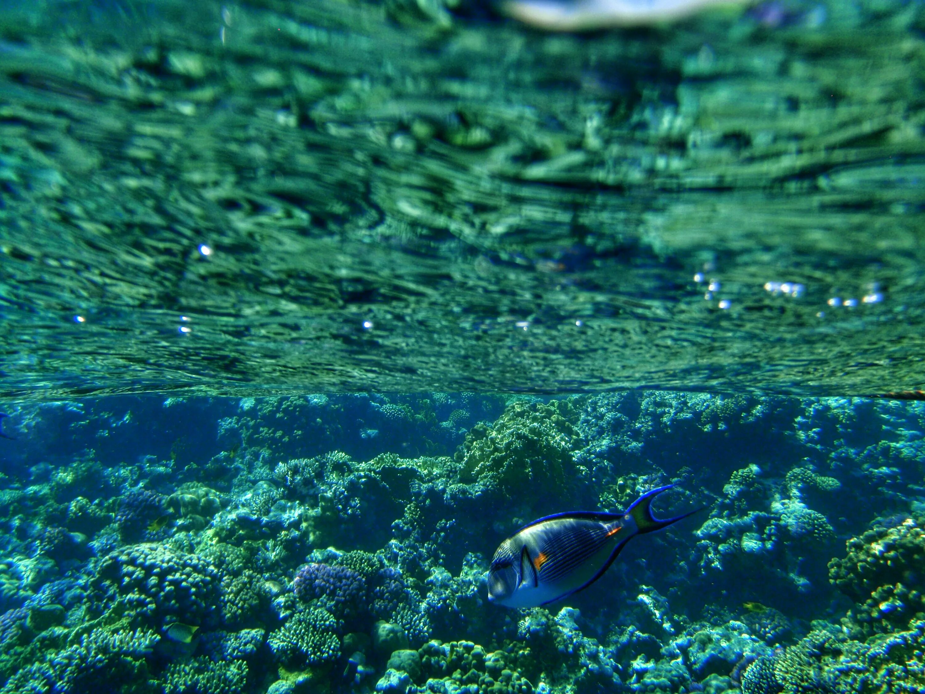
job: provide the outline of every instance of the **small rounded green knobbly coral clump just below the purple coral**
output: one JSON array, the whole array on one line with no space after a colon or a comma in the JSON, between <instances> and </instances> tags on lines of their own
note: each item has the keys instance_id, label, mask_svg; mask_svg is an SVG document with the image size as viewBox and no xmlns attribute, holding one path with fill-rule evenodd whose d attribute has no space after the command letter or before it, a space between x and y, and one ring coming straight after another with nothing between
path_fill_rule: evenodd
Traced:
<instances>
[{"instance_id":1,"label":"small rounded green knobbly coral clump just below the purple coral","mask_svg":"<svg viewBox=\"0 0 925 694\"><path fill-rule=\"evenodd\" d=\"M333 663L340 655L339 622L333 614L313 607L293 614L267 639L270 650L283 663L317 666Z\"/></svg>"}]
</instances>

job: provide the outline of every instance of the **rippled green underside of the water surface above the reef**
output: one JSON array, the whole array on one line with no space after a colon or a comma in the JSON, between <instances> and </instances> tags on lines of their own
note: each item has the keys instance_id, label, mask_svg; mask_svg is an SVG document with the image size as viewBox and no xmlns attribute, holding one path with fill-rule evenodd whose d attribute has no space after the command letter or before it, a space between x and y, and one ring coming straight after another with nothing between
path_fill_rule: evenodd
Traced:
<instances>
[{"instance_id":1,"label":"rippled green underside of the water surface above the reef","mask_svg":"<svg viewBox=\"0 0 925 694\"><path fill-rule=\"evenodd\" d=\"M0 391L920 387L923 29L5 4Z\"/></svg>"}]
</instances>

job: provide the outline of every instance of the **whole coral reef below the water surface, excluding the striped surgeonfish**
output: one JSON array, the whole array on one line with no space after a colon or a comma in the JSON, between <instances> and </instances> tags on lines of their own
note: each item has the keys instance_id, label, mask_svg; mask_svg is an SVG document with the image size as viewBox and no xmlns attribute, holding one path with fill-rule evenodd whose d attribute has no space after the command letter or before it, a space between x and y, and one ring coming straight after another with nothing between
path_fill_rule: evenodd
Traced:
<instances>
[{"instance_id":1,"label":"whole coral reef below the water surface, excluding the striped surgeonfish","mask_svg":"<svg viewBox=\"0 0 925 694\"><path fill-rule=\"evenodd\" d=\"M0 692L925 691L922 403L631 391L10 410ZM375 433L374 433L375 432ZM534 518L707 506L546 607Z\"/></svg>"}]
</instances>

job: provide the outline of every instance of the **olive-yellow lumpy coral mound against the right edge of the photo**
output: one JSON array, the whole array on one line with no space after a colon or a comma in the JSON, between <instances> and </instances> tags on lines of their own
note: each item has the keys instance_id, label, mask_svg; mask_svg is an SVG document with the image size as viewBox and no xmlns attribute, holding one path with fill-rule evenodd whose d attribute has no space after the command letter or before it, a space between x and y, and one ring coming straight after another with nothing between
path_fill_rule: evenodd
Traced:
<instances>
[{"instance_id":1,"label":"olive-yellow lumpy coral mound against the right edge of the photo","mask_svg":"<svg viewBox=\"0 0 925 694\"><path fill-rule=\"evenodd\" d=\"M908 518L849 539L847 556L829 563L829 579L857 602L846 626L857 635L905 628L925 617L925 531Z\"/></svg>"}]
</instances>

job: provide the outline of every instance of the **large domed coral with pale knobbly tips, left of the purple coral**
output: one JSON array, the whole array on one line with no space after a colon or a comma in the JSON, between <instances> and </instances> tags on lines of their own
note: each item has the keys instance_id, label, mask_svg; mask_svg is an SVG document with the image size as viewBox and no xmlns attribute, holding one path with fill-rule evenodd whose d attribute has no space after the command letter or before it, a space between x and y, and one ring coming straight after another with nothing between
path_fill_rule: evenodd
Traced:
<instances>
[{"instance_id":1,"label":"large domed coral with pale knobbly tips, left of the purple coral","mask_svg":"<svg viewBox=\"0 0 925 694\"><path fill-rule=\"evenodd\" d=\"M216 568L196 554L144 543L106 556L92 587L145 623L208 626L218 619L219 583Z\"/></svg>"}]
</instances>

